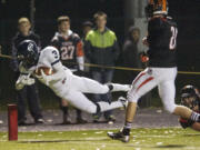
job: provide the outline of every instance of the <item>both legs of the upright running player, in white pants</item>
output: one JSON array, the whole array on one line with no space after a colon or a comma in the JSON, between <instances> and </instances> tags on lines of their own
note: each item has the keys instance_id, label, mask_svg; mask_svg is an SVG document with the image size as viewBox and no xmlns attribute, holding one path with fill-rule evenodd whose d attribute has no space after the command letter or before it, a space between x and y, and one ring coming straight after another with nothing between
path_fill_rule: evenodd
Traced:
<instances>
[{"instance_id":1,"label":"both legs of the upright running player, in white pants","mask_svg":"<svg viewBox=\"0 0 200 150\"><path fill-rule=\"evenodd\" d=\"M172 72L167 71L167 72ZM159 72L157 70L157 74L168 74L167 72ZM143 74L143 76L142 76ZM174 87L174 79L176 79L176 71L174 73L171 73L166 78L164 76L162 77L163 80L157 80L158 78L154 76L153 77L148 77L148 74L144 74L144 72L141 72L136 80L133 81L132 89L128 93L128 108L126 111L126 122L124 127L122 128L121 131L113 133L113 132L108 132L108 136L112 139L121 140L123 142L129 141L129 136L130 136L130 129L131 129L131 123L133 120L133 117L136 114L137 110L137 101L138 99L150 91L152 88L158 86L159 88L159 94L161 97L162 103L164 106L164 109L169 111L170 113L180 116L186 119L190 119L192 121L200 121L200 114L190 110L187 107L183 106L177 106L174 103L174 96L176 96L176 87ZM167 79L167 80L166 80Z\"/></svg>"}]
</instances>

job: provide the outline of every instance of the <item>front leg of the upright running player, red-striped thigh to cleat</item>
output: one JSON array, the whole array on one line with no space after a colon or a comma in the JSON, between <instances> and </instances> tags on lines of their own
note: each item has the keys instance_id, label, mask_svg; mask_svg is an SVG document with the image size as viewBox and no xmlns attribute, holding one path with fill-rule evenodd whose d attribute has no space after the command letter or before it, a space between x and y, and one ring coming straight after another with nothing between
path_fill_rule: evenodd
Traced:
<instances>
[{"instance_id":1,"label":"front leg of the upright running player, red-striped thigh to cleat","mask_svg":"<svg viewBox=\"0 0 200 150\"><path fill-rule=\"evenodd\" d=\"M124 127L119 132L108 132L111 139L121 140L123 142L129 141L131 124L137 111L137 103L141 96L153 89L158 81L153 76L148 73L149 69L140 72L132 82L132 89L128 92L128 107L126 110Z\"/></svg>"}]
</instances>

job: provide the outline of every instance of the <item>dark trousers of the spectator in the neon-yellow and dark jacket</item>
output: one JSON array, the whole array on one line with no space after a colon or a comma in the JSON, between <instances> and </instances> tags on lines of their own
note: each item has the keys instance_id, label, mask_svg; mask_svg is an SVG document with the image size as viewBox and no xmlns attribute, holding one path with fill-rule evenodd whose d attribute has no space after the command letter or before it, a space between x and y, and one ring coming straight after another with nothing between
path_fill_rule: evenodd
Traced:
<instances>
[{"instance_id":1,"label":"dark trousers of the spectator in the neon-yellow and dark jacket","mask_svg":"<svg viewBox=\"0 0 200 150\"><path fill-rule=\"evenodd\" d=\"M108 83L112 81L112 77L113 77L113 70L103 70L103 71L91 71L91 76L92 79L96 81L99 81L100 83ZM106 93L106 94L94 94L93 96L94 102L98 101L107 101L107 102L111 102L112 101L112 94ZM109 117L112 114L112 111L106 111L104 112L104 118L109 119ZM99 117L101 116L101 113L98 114Z\"/></svg>"}]
</instances>

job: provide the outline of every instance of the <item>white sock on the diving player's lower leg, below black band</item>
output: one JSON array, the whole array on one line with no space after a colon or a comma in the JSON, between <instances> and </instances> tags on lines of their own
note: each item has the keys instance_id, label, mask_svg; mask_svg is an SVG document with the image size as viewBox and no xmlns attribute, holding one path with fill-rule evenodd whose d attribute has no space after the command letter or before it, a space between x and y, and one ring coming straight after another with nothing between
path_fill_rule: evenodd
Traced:
<instances>
[{"instance_id":1,"label":"white sock on the diving player's lower leg, below black band","mask_svg":"<svg viewBox=\"0 0 200 150\"><path fill-rule=\"evenodd\" d=\"M98 104L100 107L101 112L123 107L123 104L120 101L114 101L111 103L100 101L98 102Z\"/></svg>"}]
</instances>

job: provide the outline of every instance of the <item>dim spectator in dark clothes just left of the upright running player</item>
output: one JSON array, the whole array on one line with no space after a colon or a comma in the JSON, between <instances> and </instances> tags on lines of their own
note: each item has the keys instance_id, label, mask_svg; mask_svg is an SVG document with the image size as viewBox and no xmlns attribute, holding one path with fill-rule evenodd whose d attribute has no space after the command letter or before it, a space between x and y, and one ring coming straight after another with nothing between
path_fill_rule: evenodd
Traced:
<instances>
[{"instance_id":1,"label":"dim spectator in dark clothes just left of the upright running player","mask_svg":"<svg viewBox=\"0 0 200 150\"><path fill-rule=\"evenodd\" d=\"M122 58L123 64L128 68L141 68L140 54L138 52L138 42L140 39L140 29L130 27L127 40L123 44ZM126 79L131 82L138 72L126 71Z\"/></svg>"}]
</instances>

